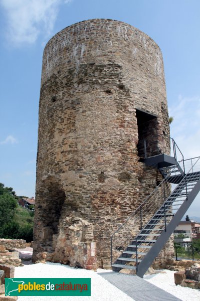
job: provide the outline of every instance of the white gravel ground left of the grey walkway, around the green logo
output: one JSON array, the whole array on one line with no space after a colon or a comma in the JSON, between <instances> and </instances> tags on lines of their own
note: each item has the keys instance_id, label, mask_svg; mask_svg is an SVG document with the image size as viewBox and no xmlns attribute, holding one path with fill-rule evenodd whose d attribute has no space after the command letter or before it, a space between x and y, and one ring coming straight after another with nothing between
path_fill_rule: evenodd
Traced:
<instances>
[{"instance_id":1,"label":"white gravel ground left of the grey walkway, around the green logo","mask_svg":"<svg viewBox=\"0 0 200 301\"><path fill-rule=\"evenodd\" d=\"M96 272L86 269L71 268L60 263L48 262L24 265L15 268L16 278L52 277L52 278L91 278L91 296L19 296L18 301L133 301L131 297L110 284Z\"/></svg>"}]
</instances>

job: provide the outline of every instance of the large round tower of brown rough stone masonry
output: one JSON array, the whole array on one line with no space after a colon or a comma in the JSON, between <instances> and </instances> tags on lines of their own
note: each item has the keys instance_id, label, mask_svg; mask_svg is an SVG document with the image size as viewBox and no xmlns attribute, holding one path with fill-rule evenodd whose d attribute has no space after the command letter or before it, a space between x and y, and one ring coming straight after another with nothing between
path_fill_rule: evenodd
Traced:
<instances>
[{"instance_id":1,"label":"large round tower of brown rough stone masonry","mask_svg":"<svg viewBox=\"0 0 200 301\"><path fill-rule=\"evenodd\" d=\"M163 133L163 61L151 38L101 19L56 34L43 56L34 261L109 266L110 235L161 181L140 141Z\"/></svg>"}]
</instances>

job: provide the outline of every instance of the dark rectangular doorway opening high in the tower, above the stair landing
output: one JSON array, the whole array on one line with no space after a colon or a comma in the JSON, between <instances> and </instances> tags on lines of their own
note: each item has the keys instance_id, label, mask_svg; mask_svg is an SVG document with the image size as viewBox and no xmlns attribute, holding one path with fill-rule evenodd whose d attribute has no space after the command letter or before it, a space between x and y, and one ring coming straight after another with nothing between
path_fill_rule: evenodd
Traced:
<instances>
[{"instance_id":1,"label":"dark rectangular doorway opening high in the tower, above the stair landing","mask_svg":"<svg viewBox=\"0 0 200 301\"><path fill-rule=\"evenodd\" d=\"M149 114L142 110L136 109L137 129L138 129L138 156L145 158L145 144L146 155L154 156L157 152L157 116Z\"/></svg>"}]
</instances>

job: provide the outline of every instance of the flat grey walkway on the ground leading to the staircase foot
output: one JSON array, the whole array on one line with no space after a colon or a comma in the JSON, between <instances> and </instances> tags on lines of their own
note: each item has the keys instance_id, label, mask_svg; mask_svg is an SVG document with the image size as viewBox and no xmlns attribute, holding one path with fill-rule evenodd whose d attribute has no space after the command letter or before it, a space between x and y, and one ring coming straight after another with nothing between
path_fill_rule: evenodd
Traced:
<instances>
[{"instance_id":1,"label":"flat grey walkway on the ground leading to the staircase foot","mask_svg":"<svg viewBox=\"0 0 200 301\"><path fill-rule=\"evenodd\" d=\"M135 301L181 301L165 290L136 276L117 272L98 273Z\"/></svg>"}]
</instances>

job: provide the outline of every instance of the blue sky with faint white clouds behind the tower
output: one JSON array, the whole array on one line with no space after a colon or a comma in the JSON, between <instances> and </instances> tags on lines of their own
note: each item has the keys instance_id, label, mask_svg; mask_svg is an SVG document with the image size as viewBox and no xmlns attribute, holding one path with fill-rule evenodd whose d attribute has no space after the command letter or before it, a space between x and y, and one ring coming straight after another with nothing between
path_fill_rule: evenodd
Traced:
<instances>
[{"instance_id":1,"label":"blue sky with faint white clouds behind the tower","mask_svg":"<svg viewBox=\"0 0 200 301\"><path fill-rule=\"evenodd\" d=\"M185 158L200 156L199 0L0 0L0 182L35 194L38 107L45 44L83 20L126 22L160 47L171 136ZM200 216L200 198L188 214Z\"/></svg>"}]
</instances>

